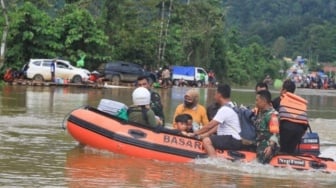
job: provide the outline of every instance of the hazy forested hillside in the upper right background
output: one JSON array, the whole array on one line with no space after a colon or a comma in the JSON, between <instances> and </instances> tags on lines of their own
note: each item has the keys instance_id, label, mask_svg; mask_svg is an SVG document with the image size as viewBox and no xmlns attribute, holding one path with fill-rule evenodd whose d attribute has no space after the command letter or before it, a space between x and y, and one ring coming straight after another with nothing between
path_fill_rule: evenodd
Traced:
<instances>
[{"instance_id":1,"label":"hazy forested hillside in the upper right background","mask_svg":"<svg viewBox=\"0 0 336 188\"><path fill-rule=\"evenodd\" d=\"M334 61L335 1L224 0L224 4L229 7L227 26L238 28L244 46L256 42L259 36L259 44L274 49L278 39L284 37L284 54L289 57Z\"/></svg>"}]
</instances>

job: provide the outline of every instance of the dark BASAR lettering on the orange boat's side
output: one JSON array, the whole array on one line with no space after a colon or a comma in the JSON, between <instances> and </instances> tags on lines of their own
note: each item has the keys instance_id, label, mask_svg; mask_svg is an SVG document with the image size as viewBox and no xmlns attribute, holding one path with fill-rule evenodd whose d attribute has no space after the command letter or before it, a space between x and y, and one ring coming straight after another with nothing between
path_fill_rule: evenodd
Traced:
<instances>
[{"instance_id":1,"label":"dark BASAR lettering on the orange boat's side","mask_svg":"<svg viewBox=\"0 0 336 188\"><path fill-rule=\"evenodd\" d=\"M178 137L178 136L164 135L163 142L166 144L186 146L189 148L200 149L200 150L202 149L202 143L200 141L191 140L191 139Z\"/></svg>"}]
</instances>

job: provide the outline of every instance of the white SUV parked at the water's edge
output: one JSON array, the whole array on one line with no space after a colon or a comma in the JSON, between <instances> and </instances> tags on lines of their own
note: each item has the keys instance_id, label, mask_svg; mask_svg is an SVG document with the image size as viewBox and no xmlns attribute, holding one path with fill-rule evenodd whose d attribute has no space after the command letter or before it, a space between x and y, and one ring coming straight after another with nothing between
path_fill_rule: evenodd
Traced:
<instances>
[{"instance_id":1,"label":"white SUV parked at the water's edge","mask_svg":"<svg viewBox=\"0 0 336 188\"><path fill-rule=\"evenodd\" d=\"M31 59L28 63L27 78L36 81L51 81L51 63L53 59ZM69 61L56 59L55 78L73 83L86 82L90 71L74 67Z\"/></svg>"}]
</instances>

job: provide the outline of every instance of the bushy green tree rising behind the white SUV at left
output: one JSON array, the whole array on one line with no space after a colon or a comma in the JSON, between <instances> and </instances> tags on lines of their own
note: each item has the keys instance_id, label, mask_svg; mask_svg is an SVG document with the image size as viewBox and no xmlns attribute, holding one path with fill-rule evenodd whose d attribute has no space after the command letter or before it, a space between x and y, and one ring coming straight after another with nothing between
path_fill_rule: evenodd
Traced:
<instances>
[{"instance_id":1,"label":"bushy green tree rising behind the white SUV at left","mask_svg":"<svg viewBox=\"0 0 336 188\"><path fill-rule=\"evenodd\" d=\"M30 58L55 56L61 48L52 19L32 3L26 2L9 13L11 26L8 35L6 63L19 68Z\"/></svg>"}]
</instances>

